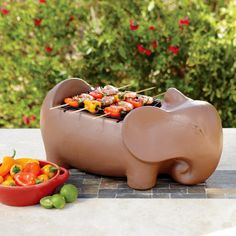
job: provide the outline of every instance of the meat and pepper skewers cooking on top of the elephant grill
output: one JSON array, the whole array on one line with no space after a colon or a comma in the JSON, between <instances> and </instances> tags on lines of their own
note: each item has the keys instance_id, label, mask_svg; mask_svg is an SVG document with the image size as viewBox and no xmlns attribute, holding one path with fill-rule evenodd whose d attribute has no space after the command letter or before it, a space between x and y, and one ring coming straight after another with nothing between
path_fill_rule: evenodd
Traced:
<instances>
[{"instance_id":1,"label":"meat and pepper skewers cooking on top of the elephant grill","mask_svg":"<svg viewBox=\"0 0 236 236\"><path fill-rule=\"evenodd\" d=\"M150 89L153 89L153 87L138 92L119 92L118 88L112 85L106 85L104 88L97 87L89 93L82 93L72 98L65 98L64 102L68 107L78 108L78 110L73 112L87 110L92 114L103 114L99 117L107 116L120 119L135 108L154 104L153 97L139 94L140 92Z\"/></svg>"}]
</instances>

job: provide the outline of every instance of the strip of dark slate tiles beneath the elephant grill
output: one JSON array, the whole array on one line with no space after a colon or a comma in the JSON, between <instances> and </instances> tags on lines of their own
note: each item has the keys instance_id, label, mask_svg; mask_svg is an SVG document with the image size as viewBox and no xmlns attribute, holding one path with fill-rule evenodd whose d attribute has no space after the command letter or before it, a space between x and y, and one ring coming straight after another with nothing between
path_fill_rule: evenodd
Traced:
<instances>
[{"instance_id":1,"label":"strip of dark slate tiles beneath the elephant grill","mask_svg":"<svg viewBox=\"0 0 236 236\"><path fill-rule=\"evenodd\" d=\"M70 170L68 183L79 189L79 198L234 198L236 170L216 170L206 181L195 186L174 182L160 176L157 185L146 191L129 188L126 178L100 177L77 169Z\"/></svg>"}]
</instances>

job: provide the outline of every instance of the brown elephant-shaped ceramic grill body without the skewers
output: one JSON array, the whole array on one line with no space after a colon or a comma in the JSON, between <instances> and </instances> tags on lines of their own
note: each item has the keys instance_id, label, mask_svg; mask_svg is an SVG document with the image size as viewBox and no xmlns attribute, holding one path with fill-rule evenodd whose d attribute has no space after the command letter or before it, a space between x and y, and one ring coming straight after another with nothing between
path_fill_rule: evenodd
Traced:
<instances>
[{"instance_id":1,"label":"brown elephant-shaped ceramic grill body without the skewers","mask_svg":"<svg viewBox=\"0 0 236 236\"><path fill-rule=\"evenodd\" d=\"M170 88L160 108L136 108L120 122L94 119L87 112L49 110L65 97L90 90L85 81L68 79L47 94L41 132L49 161L100 175L127 176L134 189L152 188L162 173L182 184L197 184L216 169L222 126L211 104Z\"/></svg>"}]
</instances>

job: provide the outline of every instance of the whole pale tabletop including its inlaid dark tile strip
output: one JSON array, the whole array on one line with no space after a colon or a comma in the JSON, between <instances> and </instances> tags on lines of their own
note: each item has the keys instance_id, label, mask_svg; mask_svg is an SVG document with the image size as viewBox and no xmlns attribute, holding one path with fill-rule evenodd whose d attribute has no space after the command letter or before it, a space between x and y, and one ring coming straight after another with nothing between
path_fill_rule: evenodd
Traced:
<instances>
[{"instance_id":1,"label":"whole pale tabletop including its inlaid dark tile strip","mask_svg":"<svg viewBox=\"0 0 236 236\"><path fill-rule=\"evenodd\" d=\"M153 189L137 191L125 178L71 169L76 203L63 210L0 204L1 235L236 235L235 140L236 129L224 129L217 170L196 186L161 176ZM14 148L18 157L46 158L38 129L0 129L0 161Z\"/></svg>"}]
</instances>

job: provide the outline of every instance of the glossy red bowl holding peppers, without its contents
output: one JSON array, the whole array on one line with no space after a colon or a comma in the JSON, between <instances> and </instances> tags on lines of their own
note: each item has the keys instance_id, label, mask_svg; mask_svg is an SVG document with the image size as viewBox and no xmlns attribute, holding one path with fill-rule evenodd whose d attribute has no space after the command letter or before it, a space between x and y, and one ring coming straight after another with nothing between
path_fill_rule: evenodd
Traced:
<instances>
[{"instance_id":1,"label":"glossy red bowl holding peppers, without its contents","mask_svg":"<svg viewBox=\"0 0 236 236\"><path fill-rule=\"evenodd\" d=\"M49 161L39 160L40 166L53 165L59 170L47 182L30 186L3 186L0 185L0 203L9 206L30 206L38 204L42 197L51 195L69 177L69 171Z\"/></svg>"}]
</instances>

